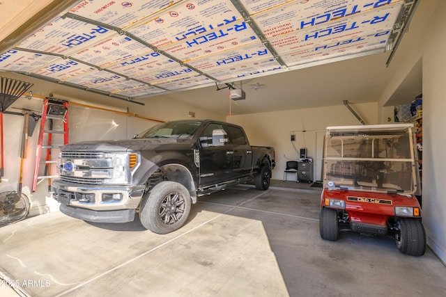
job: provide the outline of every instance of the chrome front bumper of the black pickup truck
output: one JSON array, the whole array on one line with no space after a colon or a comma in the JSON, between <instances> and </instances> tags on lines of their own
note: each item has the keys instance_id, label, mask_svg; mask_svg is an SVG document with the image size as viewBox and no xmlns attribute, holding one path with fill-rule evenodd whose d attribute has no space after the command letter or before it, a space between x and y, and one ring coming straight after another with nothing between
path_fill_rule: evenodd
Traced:
<instances>
[{"instance_id":1,"label":"chrome front bumper of the black pickup truck","mask_svg":"<svg viewBox=\"0 0 446 297\"><path fill-rule=\"evenodd\" d=\"M79 185L56 179L52 182L52 197L61 203L61 212L73 218L98 223L125 223L134 219L144 188L144 185Z\"/></svg>"}]
</instances>

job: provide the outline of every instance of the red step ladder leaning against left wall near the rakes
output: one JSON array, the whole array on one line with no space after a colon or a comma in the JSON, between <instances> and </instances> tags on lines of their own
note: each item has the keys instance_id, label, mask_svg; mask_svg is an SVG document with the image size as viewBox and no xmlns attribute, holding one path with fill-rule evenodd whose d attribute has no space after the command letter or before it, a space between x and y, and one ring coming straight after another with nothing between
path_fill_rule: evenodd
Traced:
<instances>
[{"instance_id":1,"label":"red step ladder leaning against left wall near the rakes","mask_svg":"<svg viewBox=\"0 0 446 297\"><path fill-rule=\"evenodd\" d=\"M48 123L47 123L48 122ZM56 123L58 122L58 123ZM54 129L56 126L63 126L63 129ZM63 135L63 144L59 139L59 144L53 144L53 134ZM44 137L46 136L46 137ZM47 141L47 145L43 145L43 141ZM36 150L36 165L34 166L33 187L32 192L36 191L37 185L48 179L48 191L51 191L51 181L59 175L52 175L52 171L56 171L52 164L56 164L59 157L60 148L68 143L68 102L65 100L46 97L43 101L42 119L40 120L40 132ZM59 150L56 154L52 150ZM41 160L42 150L46 150L44 160ZM53 156L55 156L53 158ZM45 164L43 175L40 175L40 164ZM52 168L54 167L54 168Z\"/></svg>"}]
</instances>

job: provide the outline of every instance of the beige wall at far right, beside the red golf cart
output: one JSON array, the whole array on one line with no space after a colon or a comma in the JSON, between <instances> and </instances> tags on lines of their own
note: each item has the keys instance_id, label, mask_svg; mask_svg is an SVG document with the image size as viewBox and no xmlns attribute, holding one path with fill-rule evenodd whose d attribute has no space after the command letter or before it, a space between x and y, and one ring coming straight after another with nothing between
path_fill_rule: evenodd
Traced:
<instances>
[{"instance_id":1,"label":"beige wall at far right, beside the red golf cart","mask_svg":"<svg viewBox=\"0 0 446 297\"><path fill-rule=\"evenodd\" d=\"M423 223L429 246L446 263L446 1L440 1L423 45Z\"/></svg>"}]
</instances>

